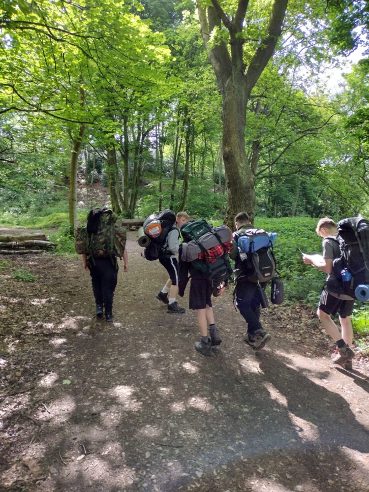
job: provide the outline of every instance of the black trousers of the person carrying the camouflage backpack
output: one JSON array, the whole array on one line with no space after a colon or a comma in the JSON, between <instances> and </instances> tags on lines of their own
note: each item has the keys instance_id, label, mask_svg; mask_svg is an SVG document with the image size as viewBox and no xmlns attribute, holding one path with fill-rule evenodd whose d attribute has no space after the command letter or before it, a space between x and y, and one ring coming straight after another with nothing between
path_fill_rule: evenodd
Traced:
<instances>
[{"instance_id":1,"label":"black trousers of the person carrying the camouflage backpack","mask_svg":"<svg viewBox=\"0 0 369 492\"><path fill-rule=\"evenodd\" d=\"M117 258L93 258L93 261L88 261L88 265L96 304L103 304L105 311L111 311L118 280Z\"/></svg>"}]
</instances>

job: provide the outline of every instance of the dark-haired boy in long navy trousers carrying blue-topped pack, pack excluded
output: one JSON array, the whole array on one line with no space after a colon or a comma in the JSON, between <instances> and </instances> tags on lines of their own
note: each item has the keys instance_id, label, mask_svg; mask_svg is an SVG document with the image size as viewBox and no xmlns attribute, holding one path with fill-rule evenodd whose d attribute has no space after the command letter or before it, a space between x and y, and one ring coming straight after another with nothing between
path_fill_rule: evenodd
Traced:
<instances>
[{"instance_id":1,"label":"dark-haired boy in long navy trousers carrying blue-topped pack, pack excluded","mask_svg":"<svg viewBox=\"0 0 369 492\"><path fill-rule=\"evenodd\" d=\"M260 322L260 306L265 297L265 283L250 281L242 267L239 249L237 246L238 236L252 229L249 216L246 212L240 212L235 217L236 232L234 233L234 247L229 256L235 261L235 296L236 305L241 315L247 323L247 331L244 340L253 350L261 350L265 344L272 338L264 330ZM263 289L263 291L261 290Z\"/></svg>"}]
</instances>

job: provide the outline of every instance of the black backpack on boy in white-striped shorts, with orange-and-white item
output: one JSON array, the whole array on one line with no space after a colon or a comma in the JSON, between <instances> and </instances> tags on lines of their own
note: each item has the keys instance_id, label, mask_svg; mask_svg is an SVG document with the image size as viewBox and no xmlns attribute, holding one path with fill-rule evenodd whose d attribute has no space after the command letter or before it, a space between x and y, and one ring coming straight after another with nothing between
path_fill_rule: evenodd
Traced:
<instances>
[{"instance_id":1,"label":"black backpack on boy in white-striped shorts, with orange-and-white item","mask_svg":"<svg viewBox=\"0 0 369 492\"><path fill-rule=\"evenodd\" d=\"M144 249L144 256L149 261L157 260L159 257L169 257L170 252L163 247L169 231L175 229L176 215L169 209L162 210L158 214L148 215L144 221L144 232L151 239L149 246ZM159 224L161 231L158 234L151 236L146 232L150 226Z\"/></svg>"}]
</instances>

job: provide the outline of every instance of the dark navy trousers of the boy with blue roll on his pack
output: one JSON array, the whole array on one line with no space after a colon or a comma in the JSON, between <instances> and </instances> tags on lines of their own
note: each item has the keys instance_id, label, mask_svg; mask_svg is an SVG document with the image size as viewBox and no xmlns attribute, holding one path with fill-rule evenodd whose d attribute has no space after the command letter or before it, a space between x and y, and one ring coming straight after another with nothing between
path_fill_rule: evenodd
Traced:
<instances>
[{"instance_id":1,"label":"dark navy trousers of the boy with blue roll on his pack","mask_svg":"<svg viewBox=\"0 0 369 492\"><path fill-rule=\"evenodd\" d=\"M261 330L260 323L260 294L257 283L239 280L236 285L237 307L245 318L247 331L250 334Z\"/></svg>"}]
</instances>

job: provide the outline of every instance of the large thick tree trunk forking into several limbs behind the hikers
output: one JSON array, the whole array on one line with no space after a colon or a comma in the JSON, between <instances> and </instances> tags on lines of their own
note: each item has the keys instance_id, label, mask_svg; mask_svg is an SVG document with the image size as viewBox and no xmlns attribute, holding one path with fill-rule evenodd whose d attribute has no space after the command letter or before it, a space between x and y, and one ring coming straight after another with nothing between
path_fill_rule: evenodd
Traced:
<instances>
[{"instance_id":1,"label":"large thick tree trunk forking into several limbs behind the hikers","mask_svg":"<svg viewBox=\"0 0 369 492\"><path fill-rule=\"evenodd\" d=\"M219 40L208 51L223 99L223 160L228 179L228 208L226 222L233 226L238 212L247 212L251 220L255 213L255 183L245 150L246 106L251 91L271 59L285 16L288 0L274 0L265 37L260 39L251 61L244 64L246 43L243 34L248 0L238 0L237 10L226 15L218 0L205 9L198 2L201 34L208 48L210 36L221 30L229 32L229 46ZM230 20L232 19L232 20Z\"/></svg>"}]
</instances>

